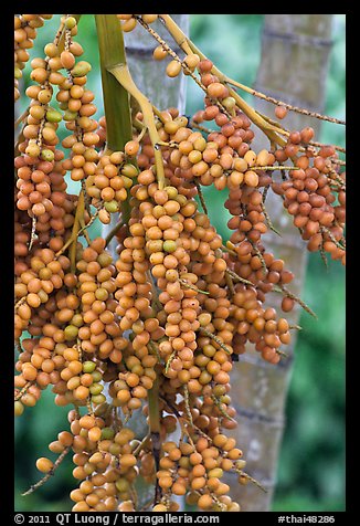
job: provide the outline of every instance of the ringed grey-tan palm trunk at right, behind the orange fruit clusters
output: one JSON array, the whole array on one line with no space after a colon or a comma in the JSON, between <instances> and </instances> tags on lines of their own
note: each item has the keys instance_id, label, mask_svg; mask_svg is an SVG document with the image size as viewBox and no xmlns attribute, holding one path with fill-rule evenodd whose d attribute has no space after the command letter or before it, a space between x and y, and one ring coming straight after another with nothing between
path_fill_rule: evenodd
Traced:
<instances>
[{"instance_id":1,"label":"ringed grey-tan palm trunk at right, behind the orange fruit clusters","mask_svg":"<svg viewBox=\"0 0 360 526\"><path fill-rule=\"evenodd\" d=\"M261 64L254 88L292 105L321 112L331 49L331 14L265 14ZM256 99L255 107L274 116L273 104ZM283 123L290 130L310 125L317 135L319 132L318 120L293 112ZM268 148L265 136L255 143L256 150L262 148ZM282 238L269 231L264 244L294 272L290 288L300 296L307 263L305 242L278 196L268 193L266 210ZM267 304L279 308L280 301L280 295L272 294ZM299 308L289 313L289 323L297 324L299 314ZM264 493L252 483L239 485L234 476L229 476L232 498L240 502L245 512L271 509L295 343L293 330L292 344L286 348L288 357L277 366L268 365L258 353L248 348L233 368L231 393L239 414L234 435L247 461L245 471L267 491Z\"/></svg>"}]
</instances>

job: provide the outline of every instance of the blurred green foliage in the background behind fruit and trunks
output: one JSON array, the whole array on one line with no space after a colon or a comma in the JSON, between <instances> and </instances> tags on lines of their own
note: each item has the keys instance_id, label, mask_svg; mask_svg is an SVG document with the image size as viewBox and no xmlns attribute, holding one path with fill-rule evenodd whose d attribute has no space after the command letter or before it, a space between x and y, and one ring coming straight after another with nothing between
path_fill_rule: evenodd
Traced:
<instances>
[{"instance_id":1,"label":"blurred green foliage in the background behind fruit and trunks","mask_svg":"<svg viewBox=\"0 0 360 526\"><path fill-rule=\"evenodd\" d=\"M59 15L54 15L59 20ZM339 118L345 115L345 15L333 15L333 46L326 84L325 113ZM216 65L240 82L252 85L260 64L262 14L192 14L191 36ZM56 22L46 22L39 31L31 57L42 52L52 40ZM93 64L88 86L100 93L96 30L93 17L83 17L80 41L84 60ZM29 72L29 70L28 70ZM189 80L190 81L190 80ZM25 85L29 74L25 76ZM250 95L244 98L250 101ZM187 114L203 104L203 93L188 82ZM23 111L21 107L19 112ZM96 97L98 112L103 102ZM320 140L343 145L340 126L325 123ZM70 186L77 190L76 183ZM205 189L213 224L226 235L226 213L219 214L224 193ZM99 224L92 227L99 233ZM310 254L303 298L317 313L315 320L301 315L295 349L295 366L289 386L286 427L277 474L273 511L343 511L345 509L345 270L329 262L326 270L318 254ZM65 429L66 408L54 409L53 393L45 391L34 410L27 410L15 421L15 509L70 509L68 492L74 487L71 459L65 459L56 476L28 497L21 497L30 484L39 480L35 459L47 455L47 444ZM54 456L50 454L49 456Z\"/></svg>"}]
</instances>

